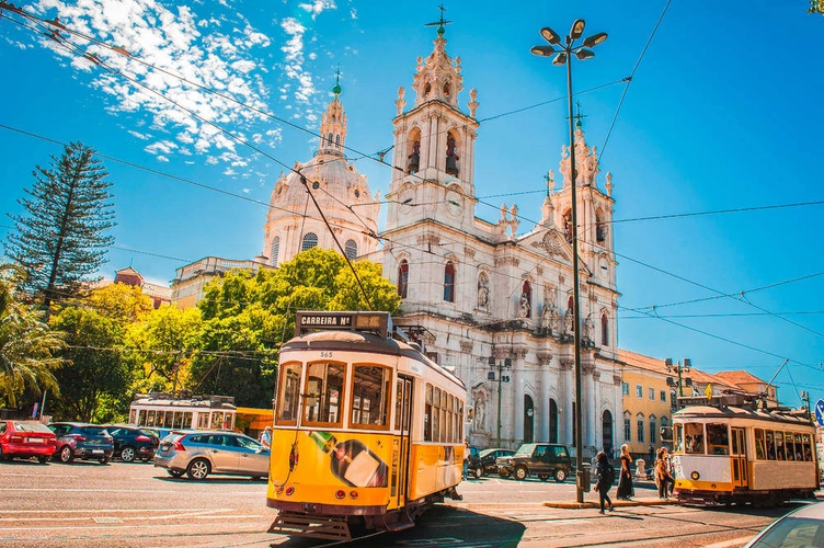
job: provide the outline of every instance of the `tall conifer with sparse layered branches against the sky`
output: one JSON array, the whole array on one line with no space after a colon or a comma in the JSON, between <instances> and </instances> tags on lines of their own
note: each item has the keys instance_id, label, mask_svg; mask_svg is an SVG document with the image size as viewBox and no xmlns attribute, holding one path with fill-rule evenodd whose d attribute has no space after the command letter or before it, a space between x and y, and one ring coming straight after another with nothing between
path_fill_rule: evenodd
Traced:
<instances>
[{"instance_id":1,"label":"tall conifer with sparse layered branches against the sky","mask_svg":"<svg viewBox=\"0 0 824 548\"><path fill-rule=\"evenodd\" d=\"M114 238L113 195L94 150L81 142L65 147L50 169L37 165L28 196L18 201L24 215L12 215L15 231L5 253L26 271L26 289L42 300L46 318L53 302L75 295L80 283L105 263Z\"/></svg>"}]
</instances>

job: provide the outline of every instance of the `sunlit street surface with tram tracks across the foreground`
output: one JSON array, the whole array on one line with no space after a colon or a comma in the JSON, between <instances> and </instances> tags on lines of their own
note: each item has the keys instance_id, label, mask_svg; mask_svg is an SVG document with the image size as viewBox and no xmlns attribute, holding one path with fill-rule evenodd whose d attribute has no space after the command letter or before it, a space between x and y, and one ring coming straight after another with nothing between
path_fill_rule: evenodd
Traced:
<instances>
[{"instance_id":1,"label":"sunlit street surface with tram tracks across the foreground","mask_svg":"<svg viewBox=\"0 0 824 548\"><path fill-rule=\"evenodd\" d=\"M675 505L595 509L547 507L573 501L572 482L497 478L459 487L462 501L426 512L417 526L378 534L355 547L742 546L790 509L722 510ZM652 498L639 486L639 499ZM278 547L323 543L266 533L266 482L209 477L170 478L150 464L0 463L0 546L10 547ZM588 493L586 500L596 500Z\"/></svg>"}]
</instances>

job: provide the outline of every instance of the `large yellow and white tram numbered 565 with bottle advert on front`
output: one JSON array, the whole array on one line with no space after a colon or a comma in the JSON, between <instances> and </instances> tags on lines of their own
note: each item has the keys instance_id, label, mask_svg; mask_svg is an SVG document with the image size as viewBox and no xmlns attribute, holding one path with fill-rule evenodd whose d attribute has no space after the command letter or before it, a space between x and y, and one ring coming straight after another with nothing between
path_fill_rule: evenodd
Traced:
<instances>
[{"instance_id":1,"label":"large yellow and white tram numbered 565 with bottle advert on front","mask_svg":"<svg viewBox=\"0 0 824 548\"><path fill-rule=\"evenodd\" d=\"M394 332L387 312L297 312L279 356L270 532L398 530L458 498L466 388Z\"/></svg>"}]
</instances>

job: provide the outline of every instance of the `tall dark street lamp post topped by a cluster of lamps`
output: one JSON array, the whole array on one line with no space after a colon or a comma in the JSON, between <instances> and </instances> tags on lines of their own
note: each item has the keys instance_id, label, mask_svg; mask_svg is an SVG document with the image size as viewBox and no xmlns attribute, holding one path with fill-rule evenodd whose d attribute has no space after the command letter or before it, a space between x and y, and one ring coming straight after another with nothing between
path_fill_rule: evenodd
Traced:
<instances>
[{"instance_id":1,"label":"tall dark street lamp post topped by a cluster of lamps","mask_svg":"<svg viewBox=\"0 0 824 548\"><path fill-rule=\"evenodd\" d=\"M540 30L540 35L549 43L548 46L533 46L530 52L540 57L554 56L552 65L566 65L566 99L570 113L570 179L571 181L571 199L572 199L572 316L573 316L573 345L575 359L575 466L577 467L576 476L576 494L577 502L584 502L584 455L583 455L583 436L581 433L583 408L581 406L581 307L579 300L579 276L577 276L577 199L575 197L575 180L577 170L575 169L575 130L572 112L572 56L579 60L593 57L595 54L591 47L595 47L605 39L606 33L597 33L585 38L580 45L575 42L584 33L586 23L583 19L575 20L572 23L570 34L564 37L561 44L561 35L548 26ZM557 48L557 49L556 49ZM587 486L588 487L588 486Z\"/></svg>"}]
</instances>

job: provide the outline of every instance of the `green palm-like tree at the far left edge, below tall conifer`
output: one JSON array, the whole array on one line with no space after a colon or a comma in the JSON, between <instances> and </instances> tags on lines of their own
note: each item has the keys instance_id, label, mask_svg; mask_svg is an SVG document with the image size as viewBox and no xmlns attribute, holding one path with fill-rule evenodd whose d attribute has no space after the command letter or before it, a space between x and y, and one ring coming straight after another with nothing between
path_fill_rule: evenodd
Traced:
<instances>
[{"instance_id":1,"label":"green palm-like tree at the far left edge, below tall conifer","mask_svg":"<svg viewBox=\"0 0 824 548\"><path fill-rule=\"evenodd\" d=\"M0 404L16 407L21 396L58 391L53 374L60 334L41 320L42 313L21 301L22 271L0 265Z\"/></svg>"}]
</instances>

